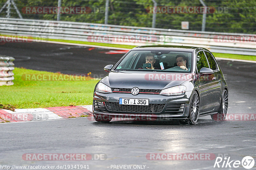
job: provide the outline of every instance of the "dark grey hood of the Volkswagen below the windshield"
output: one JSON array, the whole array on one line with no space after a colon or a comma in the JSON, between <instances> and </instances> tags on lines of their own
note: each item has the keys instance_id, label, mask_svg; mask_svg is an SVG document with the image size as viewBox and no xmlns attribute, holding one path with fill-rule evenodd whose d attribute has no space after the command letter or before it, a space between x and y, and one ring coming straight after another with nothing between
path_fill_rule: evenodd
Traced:
<instances>
[{"instance_id":1,"label":"dark grey hood of the Volkswagen below the windshield","mask_svg":"<svg viewBox=\"0 0 256 170\"><path fill-rule=\"evenodd\" d=\"M165 89L188 80L188 73L111 71L101 82L111 88Z\"/></svg>"}]
</instances>

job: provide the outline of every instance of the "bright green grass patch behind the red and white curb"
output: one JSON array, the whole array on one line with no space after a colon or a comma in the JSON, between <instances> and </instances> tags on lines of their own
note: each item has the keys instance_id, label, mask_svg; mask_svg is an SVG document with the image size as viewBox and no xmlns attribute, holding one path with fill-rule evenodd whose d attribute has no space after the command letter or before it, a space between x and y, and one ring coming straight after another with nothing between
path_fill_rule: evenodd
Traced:
<instances>
[{"instance_id":1,"label":"bright green grass patch behind the red and white curb","mask_svg":"<svg viewBox=\"0 0 256 170\"><path fill-rule=\"evenodd\" d=\"M25 81L23 74L54 73L17 67L13 73L14 85L0 87L0 104L16 109L92 104L93 89L98 82L89 78L83 81Z\"/></svg>"}]
</instances>

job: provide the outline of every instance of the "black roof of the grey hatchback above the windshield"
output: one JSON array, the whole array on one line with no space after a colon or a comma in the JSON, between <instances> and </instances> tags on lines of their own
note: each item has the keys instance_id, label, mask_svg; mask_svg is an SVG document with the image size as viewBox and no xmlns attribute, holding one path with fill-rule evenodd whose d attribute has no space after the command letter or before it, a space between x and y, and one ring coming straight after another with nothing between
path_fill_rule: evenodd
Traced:
<instances>
[{"instance_id":1,"label":"black roof of the grey hatchback above the windshield","mask_svg":"<svg viewBox=\"0 0 256 170\"><path fill-rule=\"evenodd\" d=\"M167 45L155 45L155 46L137 46L132 48L132 50L173 50L173 51L187 51L193 52L196 49L198 50L207 50L202 47L194 47L194 46L167 46ZM209 50L207 50L209 51Z\"/></svg>"}]
</instances>

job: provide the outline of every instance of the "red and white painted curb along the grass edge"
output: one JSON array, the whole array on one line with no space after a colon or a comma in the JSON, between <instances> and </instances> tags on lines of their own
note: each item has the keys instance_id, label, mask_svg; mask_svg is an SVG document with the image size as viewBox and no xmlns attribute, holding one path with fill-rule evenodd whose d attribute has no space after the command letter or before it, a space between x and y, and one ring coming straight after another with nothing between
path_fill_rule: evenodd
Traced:
<instances>
[{"instance_id":1,"label":"red and white painted curb along the grass edge","mask_svg":"<svg viewBox=\"0 0 256 170\"><path fill-rule=\"evenodd\" d=\"M0 110L1 123L66 119L73 117L92 117L92 105L15 109L15 111Z\"/></svg>"}]
</instances>

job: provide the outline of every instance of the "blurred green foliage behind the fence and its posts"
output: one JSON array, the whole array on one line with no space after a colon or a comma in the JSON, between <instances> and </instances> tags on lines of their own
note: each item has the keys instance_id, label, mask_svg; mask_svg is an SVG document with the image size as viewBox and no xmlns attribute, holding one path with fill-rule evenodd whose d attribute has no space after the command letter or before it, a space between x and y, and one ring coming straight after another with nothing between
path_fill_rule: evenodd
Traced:
<instances>
[{"instance_id":1,"label":"blurred green foliage behind the fence and its posts","mask_svg":"<svg viewBox=\"0 0 256 170\"><path fill-rule=\"evenodd\" d=\"M0 0L0 7L6 0ZM202 6L199 0L156 0L157 6ZM19 10L26 6L57 6L58 0L19 0L15 1ZM76 21L104 24L105 0L62 0L61 6L90 7L92 11L86 14L61 14L62 21ZM204 0L207 6L214 7L213 13L206 15L205 31L256 33L256 0ZM108 24L151 27L152 0L109 0ZM6 10L0 13L5 17ZM56 20L57 14L26 14L23 18ZM181 21L189 21L189 30L201 31L203 14L196 13L157 13L156 27L166 29L181 29ZM12 9L12 17L18 15Z\"/></svg>"}]
</instances>

